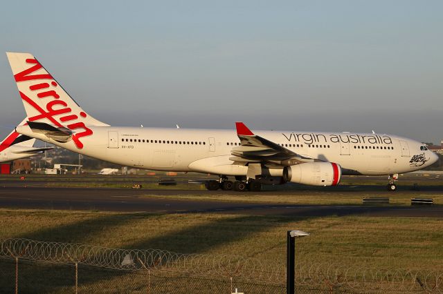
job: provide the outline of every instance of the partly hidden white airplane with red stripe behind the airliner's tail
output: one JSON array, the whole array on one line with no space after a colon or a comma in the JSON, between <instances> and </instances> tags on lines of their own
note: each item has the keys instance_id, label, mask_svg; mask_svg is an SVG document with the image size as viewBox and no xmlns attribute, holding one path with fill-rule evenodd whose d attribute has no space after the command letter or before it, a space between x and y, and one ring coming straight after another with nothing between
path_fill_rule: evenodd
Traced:
<instances>
[{"instance_id":1,"label":"partly hidden white airplane with red stripe behind the airliner's tail","mask_svg":"<svg viewBox=\"0 0 443 294\"><path fill-rule=\"evenodd\" d=\"M26 121L28 121L28 117L21 121L20 125L26 124ZM33 147L35 141L35 138L20 135L13 130L12 133L0 143L0 162L31 157L52 149L52 147L35 148Z\"/></svg>"}]
</instances>

